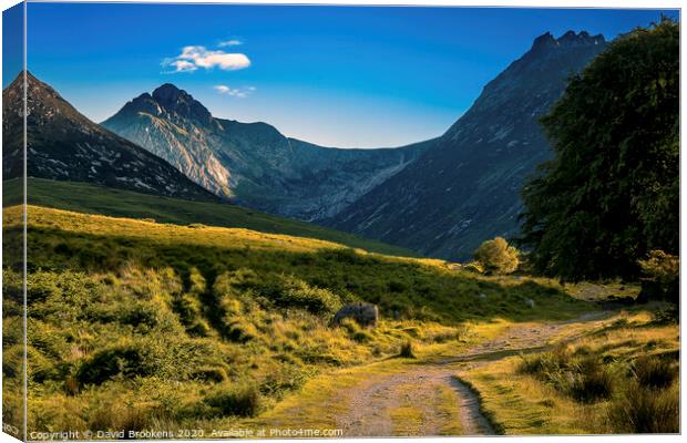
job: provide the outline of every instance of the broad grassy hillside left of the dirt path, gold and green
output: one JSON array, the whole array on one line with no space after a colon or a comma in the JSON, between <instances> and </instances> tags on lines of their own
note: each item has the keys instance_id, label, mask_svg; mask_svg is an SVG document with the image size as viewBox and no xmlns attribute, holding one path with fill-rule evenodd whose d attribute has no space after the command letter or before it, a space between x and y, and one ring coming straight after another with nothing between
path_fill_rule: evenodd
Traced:
<instances>
[{"instance_id":1,"label":"broad grassy hillside left of the dirt path, gold and green","mask_svg":"<svg viewBox=\"0 0 687 443\"><path fill-rule=\"evenodd\" d=\"M318 372L393 357L407 341L422 353L505 322L589 309L547 280L318 239L39 206L28 214L30 430L226 429ZM6 248L19 247L20 216L19 206L4 209ZM7 331L21 321L19 265L3 264ZM353 300L379 305L378 328L330 327ZM11 423L21 337L3 344Z\"/></svg>"}]
</instances>

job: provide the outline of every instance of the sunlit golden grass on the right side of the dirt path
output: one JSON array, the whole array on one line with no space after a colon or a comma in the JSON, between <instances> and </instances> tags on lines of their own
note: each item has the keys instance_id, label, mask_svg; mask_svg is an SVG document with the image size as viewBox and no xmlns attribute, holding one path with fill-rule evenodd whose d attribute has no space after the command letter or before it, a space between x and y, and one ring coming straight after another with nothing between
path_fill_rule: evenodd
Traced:
<instances>
[{"instance_id":1,"label":"sunlit golden grass on the right side of the dirt path","mask_svg":"<svg viewBox=\"0 0 687 443\"><path fill-rule=\"evenodd\" d=\"M664 365L674 365L677 364L679 352L678 326L659 326L647 310L621 312L594 328L587 326L583 337L562 344L563 350L551 351L565 352L567 357L561 357L564 359L596 359L605 368L603 370L608 371L609 381L613 382L607 399L580 401L566 390L565 384L561 384L566 380L564 372L558 375L551 372L553 369L544 369L539 375L527 373L529 370L523 369L524 364L533 367L536 359L547 358L542 353L506 358L461 372L460 377L479 391L484 410L494 424L507 434L642 432L617 423L616 404L623 401L625 392L630 389L634 377L632 368L652 356L657 361L665 361ZM560 338L565 333L577 336L580 330L581 326L573 323L562 331ZM573 360L571 364L577 363ZM650 370L656 372L659 369ZM562 379L558 378L561 375ZM671 387L673 383L665 392L655 392L654 395L677 395L677 390ZM676 411L662 410L662 414L674 414ZM652 412L648 409L643 413L650 416L659 411ZM668 416L665 419L670 422ZM677 431L670 425L660 425L664 427L658 432ZM649 432L657 432L656 427Z\"/></svg>"}]
</instances>

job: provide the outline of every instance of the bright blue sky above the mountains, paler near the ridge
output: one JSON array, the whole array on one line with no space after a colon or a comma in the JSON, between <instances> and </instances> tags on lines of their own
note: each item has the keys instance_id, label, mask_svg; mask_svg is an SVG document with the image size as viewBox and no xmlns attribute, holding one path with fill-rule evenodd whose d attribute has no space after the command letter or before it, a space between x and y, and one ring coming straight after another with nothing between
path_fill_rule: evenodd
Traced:
<instances>
[{"instance_id":1,"label":"bright blue sky above the mountains, paler near the ridge","mask_svg":"<svg viewBox=\"0 0 687 443\"><path fill-rule=\"evenodd\" d=\"M442 134L537 35L608 39L659 14L29 3L29 70L96 122L171 82L219 117L328 146L398 146Z\"/></svg>"}]
</instances>

